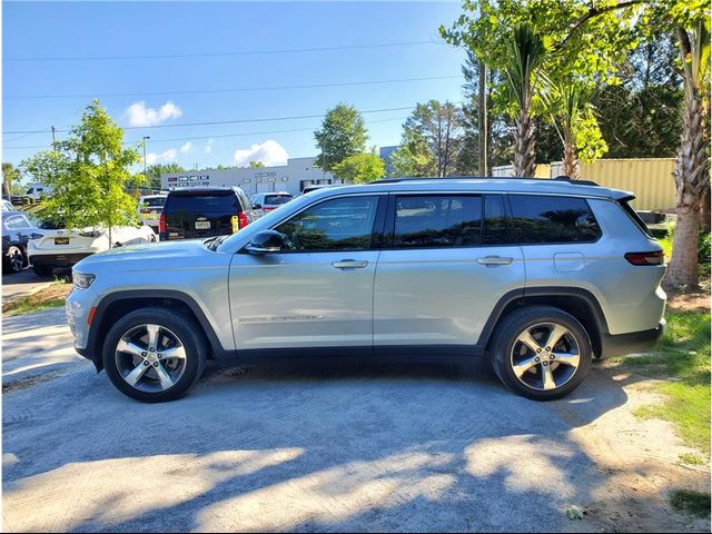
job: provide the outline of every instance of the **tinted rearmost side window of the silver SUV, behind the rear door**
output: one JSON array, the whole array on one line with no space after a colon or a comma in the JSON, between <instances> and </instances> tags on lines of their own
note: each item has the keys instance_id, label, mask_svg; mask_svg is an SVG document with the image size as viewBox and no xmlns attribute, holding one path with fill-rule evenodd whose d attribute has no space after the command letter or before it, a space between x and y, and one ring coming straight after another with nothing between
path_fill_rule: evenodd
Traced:
<instances>
[{"instance_id":1,"label":"tinted rearmost side window of the silver SUV, behind the rear door","mask_svg":"<svg viewBox=\"0 0 712 534\"><path fill-rule=\"evenodd\" d=\"M517 243L595 241L601 229L583 198L510 195Z\"/></svg>"}]
</instances>

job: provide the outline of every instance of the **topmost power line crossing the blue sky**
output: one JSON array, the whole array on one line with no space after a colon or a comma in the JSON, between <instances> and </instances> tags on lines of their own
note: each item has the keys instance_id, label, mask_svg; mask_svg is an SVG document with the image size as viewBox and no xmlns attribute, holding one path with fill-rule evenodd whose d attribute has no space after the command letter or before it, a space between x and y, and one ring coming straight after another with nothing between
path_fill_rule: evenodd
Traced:
<instances>
[{"instance_id":1,"label":"topmost power line crossing the blue sky","mask_svg":"<svg viewBox=\"0 0 712 534\"><path fill-rule=\"evenodd\" d=\"M409 47L417 44L445 44L442 41L402 41L380 42L375 44L343 44L335 47L310 47L310 48L287 48L275 50L239 50L233 52L200 52L200 53L170 53L170 55L146 55L146 56L73 56L73 57L39 57L39 58L4 58L4 61L112 61L112 60L136 60L136 59L188 59L188 58L220 58L233 56L258 56L270 53L303 53L324 52L330 50L363 50L372 48Z\"/></svg>"}]
</instances>

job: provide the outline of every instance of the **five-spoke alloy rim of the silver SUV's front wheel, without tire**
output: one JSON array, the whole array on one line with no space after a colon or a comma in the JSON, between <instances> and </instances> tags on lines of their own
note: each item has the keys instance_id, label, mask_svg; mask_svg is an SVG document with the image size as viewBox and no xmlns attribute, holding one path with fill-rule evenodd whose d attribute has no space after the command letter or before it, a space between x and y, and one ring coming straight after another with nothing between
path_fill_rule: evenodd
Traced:
<instances>
[{"instance_id":1,"label":"five-spoke alloy rim of the silver SUV's front wheel, without tire","mask_svg":"<svg viewBox=\"0 0 712 534\"><path fill-rule=\"evenodd\" d=\"M168 328L138 325L116 346L116 367L131 387L141 392L165 392L186 370L186 349Z\"/></svg>"}]
</instances>

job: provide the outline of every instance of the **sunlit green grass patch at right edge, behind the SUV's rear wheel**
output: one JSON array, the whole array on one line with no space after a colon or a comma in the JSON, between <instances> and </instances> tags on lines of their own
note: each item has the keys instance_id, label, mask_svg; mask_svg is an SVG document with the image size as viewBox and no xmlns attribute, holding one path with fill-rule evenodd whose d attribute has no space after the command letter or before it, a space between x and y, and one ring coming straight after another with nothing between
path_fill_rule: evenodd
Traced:
<instances>
[{"instance_id":1,"label":"sunlit green grass patch at right edge, behind the SUV's rear wheel","mask_svg":"<svg viewBox=\"0 0 712 534\"><path fill-rule=\"evenodd\" d=\"M663 404L635 415L672 422L686 445L710 455L710 313L669 312L668 332L651 354L624 358L642 373L662 375Z\"/></svg>"}]
</instances>

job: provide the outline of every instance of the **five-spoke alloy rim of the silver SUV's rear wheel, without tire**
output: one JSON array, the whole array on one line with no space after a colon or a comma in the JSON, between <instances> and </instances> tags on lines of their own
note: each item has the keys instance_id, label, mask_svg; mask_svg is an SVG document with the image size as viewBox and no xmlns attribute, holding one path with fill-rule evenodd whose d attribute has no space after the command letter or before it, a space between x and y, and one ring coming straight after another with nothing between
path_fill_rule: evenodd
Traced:
<instances>
[{"instance_id":1,"label":"five-spoke alloy rim of the silver SUV's rear wheel, without tire","mask_svg":"<svg viewBox=\"0 0 712 534\"><path fill-rule=\"evenodd\" d=\"M578 342L556 323L527 327L512 346L512 370L532 389L548 392L563 386L575 375L580 362Z\"/></svg>"}]
</instances>

